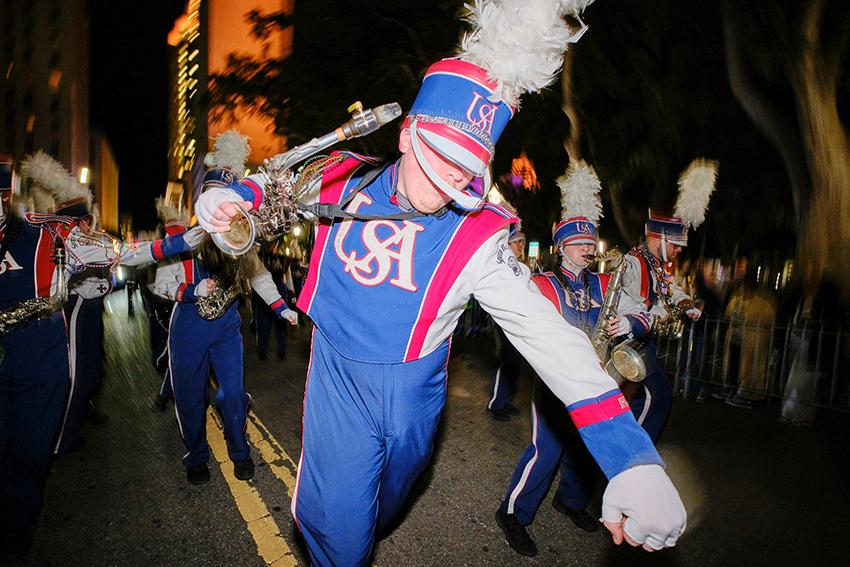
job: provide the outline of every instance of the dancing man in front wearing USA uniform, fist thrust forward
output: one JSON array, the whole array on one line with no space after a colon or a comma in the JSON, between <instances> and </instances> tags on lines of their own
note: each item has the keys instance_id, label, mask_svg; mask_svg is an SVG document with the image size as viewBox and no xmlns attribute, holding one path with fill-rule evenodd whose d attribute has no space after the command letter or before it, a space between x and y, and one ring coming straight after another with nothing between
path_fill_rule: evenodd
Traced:
<instances>
[{"instance_id":1,"label":"dancing man in front wearing USA uniform, fist thrust forward","mask_svg":"<svg viewBox=\"0 0 850 567\"><path fill-rule=\"evenodd\" d=\"M367 564L376 531L427 465L450 337L473 295L567 406L611 479L603 508L615 541L661 549L684 530L661 458L587 336L552 309L511 254L516 217L483 205L489 180L470 184L489 177L520 95L560 68L574 40L561 17L567 8L575 3L477 2L471 21L486 25L464 39L459 58L427 70L399 135L401 158L376 168L334 153L318 171L314 199L391 218L321 222L298 300L316 332L292 512L316 565ZM260 174L207 191L199 223L228 230L236 203L262 204L265 183Z\"/></svg>"}]
</instances>

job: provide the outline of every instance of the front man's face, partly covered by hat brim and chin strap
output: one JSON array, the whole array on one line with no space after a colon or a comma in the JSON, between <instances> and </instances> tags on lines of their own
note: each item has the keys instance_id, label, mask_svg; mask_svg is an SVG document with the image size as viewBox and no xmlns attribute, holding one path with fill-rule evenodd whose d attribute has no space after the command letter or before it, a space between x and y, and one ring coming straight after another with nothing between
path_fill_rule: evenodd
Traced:
<instances>
[{"instance_id":1,"label":"front man's face, partly covered by hat brim and chin strap","mask_svg":"<svg viewBox=\"0 0 850 567\"><path fill-rule=\"evenodd\" d=\"M458 191L466 189L472 181L471 173L444 159L428 144L422 143L421 148L428 165L440 178ZM407 197L413 208L421 213L435 213L445 207L452 199L431 182L419 165L410 144L409 128L402 129L398 139L398 149L402 154L398 172L399 193Z\"/></svg>"}]
</instances>

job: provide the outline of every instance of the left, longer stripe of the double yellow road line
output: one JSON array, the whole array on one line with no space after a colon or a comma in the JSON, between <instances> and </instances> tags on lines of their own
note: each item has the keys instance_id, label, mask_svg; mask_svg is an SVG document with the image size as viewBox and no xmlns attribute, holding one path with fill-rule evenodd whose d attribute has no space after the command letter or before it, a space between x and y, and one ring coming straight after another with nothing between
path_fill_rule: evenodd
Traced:
<instances>
[{"instance_id":1,"label":"left, longer stripe of the double yellow road line","mask_svg":"<svg viewBox=\"0 0 850 567\"><path fill-rule=\"evenodd\" d=\"M230 457L227 456L224 432L212 409L207 411L207 432L210 448L221 467L221 473L230 488L236 507L254 538L257 553L266 565L275 567L298 565L260 493L251 484L233 476L233 465Z\"/></svg>"}]
</instances>

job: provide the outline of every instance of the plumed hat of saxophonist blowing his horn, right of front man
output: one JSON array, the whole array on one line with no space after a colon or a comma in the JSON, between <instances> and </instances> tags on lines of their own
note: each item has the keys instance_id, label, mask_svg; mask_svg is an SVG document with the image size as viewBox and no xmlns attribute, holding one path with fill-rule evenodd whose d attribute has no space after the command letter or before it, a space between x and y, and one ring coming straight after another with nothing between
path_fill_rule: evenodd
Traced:
<instances>
[{"instance_id":1,"label":"plumed hat of saxophonist blowing his horn, right of front man","mask_svg":"<svg viewBox=\"0 0 850 567\"><path fill-rule=\"evenodd\" d=\"M596 244L596 227L602 218L602 184L596 172L584 161L571 163L557 180L561 190L561 220L552 227L552 242Z\"/></svg>"}]
</instances>

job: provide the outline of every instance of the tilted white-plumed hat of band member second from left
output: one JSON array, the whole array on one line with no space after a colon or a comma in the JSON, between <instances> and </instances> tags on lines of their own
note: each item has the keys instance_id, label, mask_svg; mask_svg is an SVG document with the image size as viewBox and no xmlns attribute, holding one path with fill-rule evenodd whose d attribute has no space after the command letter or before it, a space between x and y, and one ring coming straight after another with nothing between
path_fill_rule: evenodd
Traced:
<instances>
[{"instance_id":1,"label":"tilted white-plumed hat of band member second from left","mask_svg":"<svg viewBox=\"0 0 850 567\"><path fill-rule=\"evenodd\" d=\"M43 151L39 150L21 162L21 174L53 195L56 214L71 217L89 214L92 203L89 188Z\"/></svg>"}]
</instances>

